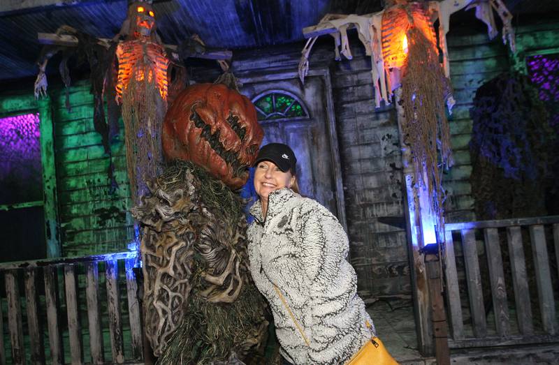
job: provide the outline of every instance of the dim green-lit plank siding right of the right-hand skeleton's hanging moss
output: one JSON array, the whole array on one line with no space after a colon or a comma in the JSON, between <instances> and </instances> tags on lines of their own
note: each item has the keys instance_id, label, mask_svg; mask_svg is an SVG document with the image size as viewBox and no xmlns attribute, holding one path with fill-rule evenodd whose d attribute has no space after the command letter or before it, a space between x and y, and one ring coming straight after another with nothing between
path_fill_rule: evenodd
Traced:
<instances>
[{"instance_id":1,"label":"dim green-lit plank siding right of the right-hand skeleton's hanging moss","mask_svg":"<svg viewBox=\"0 0 559 365\"><path fill-rule=\"evenodd\" d=\"M559 23L516 27L516 50L523 64L527 54L558 48ZM486 33L467 36L447 36L451 84L456 105L449 117L451 144L455 165L444 175L447 191L445 202L447 222L474 221L474 199L470 186L472 166L469 142L472 133L470 108L477 88L512 66L507 46L500 39L489 40ZM523 65L520 65L523 66ZM518 67L523 69L524 67Z\"/></svg>"}]
</instances>

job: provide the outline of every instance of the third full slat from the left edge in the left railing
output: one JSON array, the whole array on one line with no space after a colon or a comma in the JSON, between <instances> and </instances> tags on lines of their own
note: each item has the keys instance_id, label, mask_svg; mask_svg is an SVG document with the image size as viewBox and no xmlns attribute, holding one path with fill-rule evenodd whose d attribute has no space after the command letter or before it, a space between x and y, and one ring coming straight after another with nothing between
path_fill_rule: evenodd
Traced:
<instances>
[{"instance_id":1,"label":"third full slat from the left edge in the left railing","mask_svg":"<svg viewBox=\"0 0 559 365\"><path fill-rule=\"evenodd\" d=\"M62 349L62 336L58 325L58 297L57 297L57 269L48 266L45 273L45 302L47 304L48 341L52 364L64 364L64 350Z\"/></svg>"}]
</instances>

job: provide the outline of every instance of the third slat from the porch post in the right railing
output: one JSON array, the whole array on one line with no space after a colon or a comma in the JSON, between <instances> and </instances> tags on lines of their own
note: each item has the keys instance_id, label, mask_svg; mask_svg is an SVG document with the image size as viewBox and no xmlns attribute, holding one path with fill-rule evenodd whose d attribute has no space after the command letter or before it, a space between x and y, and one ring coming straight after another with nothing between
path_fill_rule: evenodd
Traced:
<instances>
[{"instance_id":1,"label":"third slat from the porch post in the right railing","mask_svg":"<svg viewBox=\"0 0 559 365\"><path fill-rule=\"evenodd\" d=\"M502 256L497 228L484 230L485 247L491 281L491 296L493 297L493 313L495 313L495 327L500 336L509 336L509 306L507 304L507 288L504 285Z\"/></svg>"}]
</instances>

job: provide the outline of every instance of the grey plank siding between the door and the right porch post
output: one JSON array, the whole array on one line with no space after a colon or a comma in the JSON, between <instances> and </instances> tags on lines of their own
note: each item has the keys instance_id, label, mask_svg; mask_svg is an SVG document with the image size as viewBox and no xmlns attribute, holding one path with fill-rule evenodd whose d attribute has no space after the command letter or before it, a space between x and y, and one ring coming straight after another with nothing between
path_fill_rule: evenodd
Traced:
<instances>
[{"instance_id":1,"label":"grey plank siding between the door and the right porch post","mask_svg":"<svg viewBox=\"0 0 559 365\"><path fill-rule=\"evenodd\" d=\"M331 64L351 264L365 301L411 298L405 230L382 223L386 217L405 222L398 122L392 105L375 110L361 44L353 42L351 52L351 61Z\"/></svg>"}]
</instances>

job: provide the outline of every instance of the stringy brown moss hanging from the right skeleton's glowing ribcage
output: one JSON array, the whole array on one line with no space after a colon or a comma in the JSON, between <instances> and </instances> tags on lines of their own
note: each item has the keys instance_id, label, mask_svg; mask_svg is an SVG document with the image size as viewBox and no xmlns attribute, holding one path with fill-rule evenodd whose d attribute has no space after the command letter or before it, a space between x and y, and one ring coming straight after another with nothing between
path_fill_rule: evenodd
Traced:
<instances>
[{"instance_id":1,"label":"stringy brown moss hanging from the right skeleton's glowing ribcage","mask_svg":"<svg viewBox=\"0 0 559 365\"><path fill-rule=\"evenodd\" d=\"M408 55L402 77L404 142L412 152L416 182L428 189L430 209L438 217L437 225L442 227L444 190L440 170L452 165L444 101L451 94L451 87L426 36L418 28L410 27L407 39Z\"/></svg>"}]
</instances>

